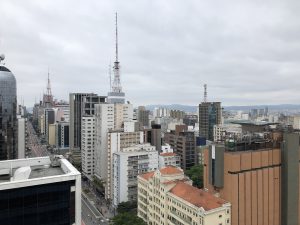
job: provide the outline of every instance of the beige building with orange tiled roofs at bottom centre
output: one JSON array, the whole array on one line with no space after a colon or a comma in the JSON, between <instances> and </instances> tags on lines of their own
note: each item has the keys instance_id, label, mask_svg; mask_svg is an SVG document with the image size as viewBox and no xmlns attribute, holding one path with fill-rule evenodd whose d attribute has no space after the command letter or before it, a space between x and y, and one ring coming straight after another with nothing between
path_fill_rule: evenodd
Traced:
<instances>
[{"instance_id":1,"label":"beige building with orange tiled roofs at bottom centre","mask_svg":"<svg viewBox=\"0 0 300 225\"><path fill-rule=\"evenodd\" d=\"M230 225L231 205L192 186L178 167L138 176L138 216L149 225Z\"/></svg>"}]
</instances>

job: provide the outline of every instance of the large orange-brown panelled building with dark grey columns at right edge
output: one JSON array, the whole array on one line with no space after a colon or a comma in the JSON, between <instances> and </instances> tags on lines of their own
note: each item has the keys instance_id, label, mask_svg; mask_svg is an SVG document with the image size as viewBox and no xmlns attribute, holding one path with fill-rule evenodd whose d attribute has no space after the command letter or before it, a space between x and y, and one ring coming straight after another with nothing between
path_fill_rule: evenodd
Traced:
<instances>
[{"instance_id":1,"label":"large orange-brown panelled building with dark grey columns at right edge","mask_svg":"<svg viewBox=\"0 0 300 225\"><path fill-rule=\"evenodd\" d=\"M232 225L300 224L299 134L211 145L204 158L204 187L231 203Z\"/></svg>"}]
</instances>

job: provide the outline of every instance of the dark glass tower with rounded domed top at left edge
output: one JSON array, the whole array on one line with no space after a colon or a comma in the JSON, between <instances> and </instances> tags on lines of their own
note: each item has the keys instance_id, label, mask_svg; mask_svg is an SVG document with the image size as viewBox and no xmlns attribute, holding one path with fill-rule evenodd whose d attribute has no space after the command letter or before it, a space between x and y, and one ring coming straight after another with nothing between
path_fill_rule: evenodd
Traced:
<instances>
[{"instance_id":1,"label":"dark glass tower with rounded domed top at left edge","mask_svg":"<svg viewBox=\"0 0 300 225\"><path fill-rule=\"evenodd\" d=\"M0 160L17 158L17 87L13 73L0 56Z\"/></svg>"}]
</instances>

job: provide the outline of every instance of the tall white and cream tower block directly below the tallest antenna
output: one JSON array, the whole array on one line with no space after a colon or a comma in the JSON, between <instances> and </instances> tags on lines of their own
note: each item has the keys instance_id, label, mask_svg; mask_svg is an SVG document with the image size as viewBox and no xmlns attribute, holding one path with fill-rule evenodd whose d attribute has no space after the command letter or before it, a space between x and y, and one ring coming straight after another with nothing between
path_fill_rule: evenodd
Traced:
<instances>
[{"instance_id":1,"label":"tall white and cream tower block directly below the tallest antenna","mask_svg":"<svg viewBox=\"0 0 300 225\"><path fill-rule=\"evenodd\" d=\"M95 105L95 175L107 180L108 149L107 140L110 130L121 129L125 121L132 121L131 104Z\"/></svg>"}]
</instances>

